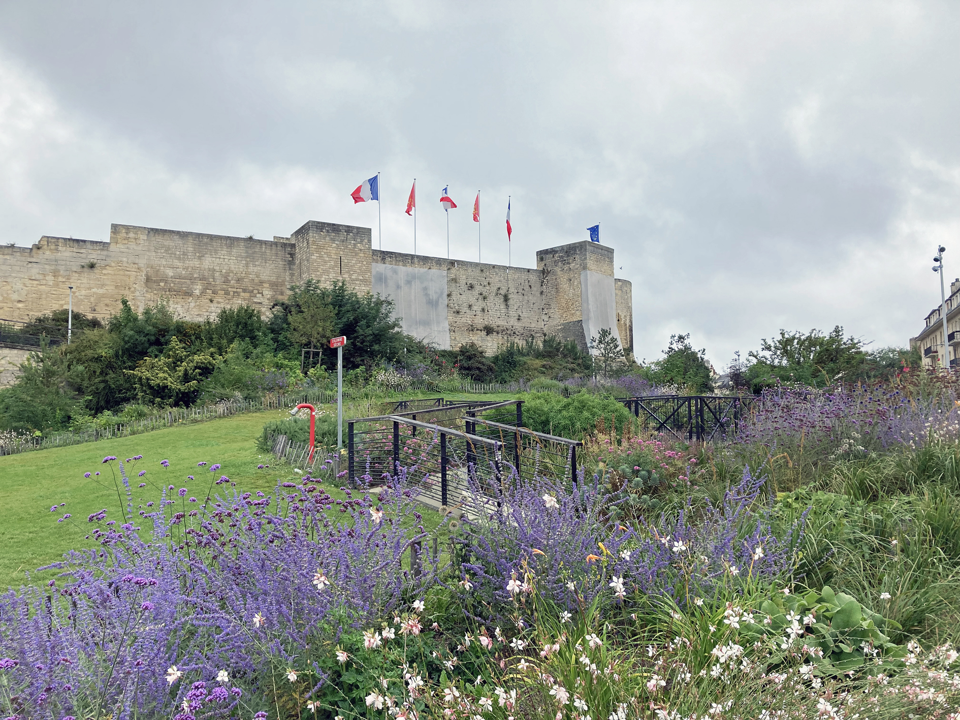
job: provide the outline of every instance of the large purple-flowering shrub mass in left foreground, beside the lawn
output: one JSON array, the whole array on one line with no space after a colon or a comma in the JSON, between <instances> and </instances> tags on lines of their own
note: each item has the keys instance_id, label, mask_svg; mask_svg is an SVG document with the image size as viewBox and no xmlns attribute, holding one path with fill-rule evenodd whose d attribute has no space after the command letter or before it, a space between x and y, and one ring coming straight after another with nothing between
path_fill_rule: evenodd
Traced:
<instances>
[{"instance_id":1,"label":"large purple-flowering shrub mass in left foreground, beside the lawn","mask_svg":"<svg viewBox=\"0 0 960 720\"><path fill-rule=\"evenodd\" d=\"M428 582L400 569L422 532L398 483L379 499L345 489L339 500L304 476L254 496L232 490L219 468L209 466L211 480L193 496L163 474L158 500L134 510L121 463L123 516L87 518L98 547L56 564L62 587L51 583L49 595L27 587L0 598L9 656L0 686L11 714L180 708L183 720L250 708L258 701L229 678L262 693L277 658L293 663L311 637L384 616ZM214 485L229 492L211 495Z\"/></svg>"}]
</instances>

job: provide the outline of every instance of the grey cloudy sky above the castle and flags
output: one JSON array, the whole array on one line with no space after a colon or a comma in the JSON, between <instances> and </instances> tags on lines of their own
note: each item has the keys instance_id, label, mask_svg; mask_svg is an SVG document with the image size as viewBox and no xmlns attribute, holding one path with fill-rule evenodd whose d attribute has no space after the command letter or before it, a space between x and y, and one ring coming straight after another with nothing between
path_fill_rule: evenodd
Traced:
<instances>
[{"instance_id":1,"label":"grey cloudy sky above the castle and flags","mask_svg":"<svg viewBox=\"0 0 960 720\"><path fill-rule=\"evenodd\" d=\"M636 355L905 346L960 276L960 4L0 3L0 242L363 225L513 261L601 223ZM952 252L950 252L952 251ZM622 269L620 269L622 266Z\"/></svg>"}]
</instances>

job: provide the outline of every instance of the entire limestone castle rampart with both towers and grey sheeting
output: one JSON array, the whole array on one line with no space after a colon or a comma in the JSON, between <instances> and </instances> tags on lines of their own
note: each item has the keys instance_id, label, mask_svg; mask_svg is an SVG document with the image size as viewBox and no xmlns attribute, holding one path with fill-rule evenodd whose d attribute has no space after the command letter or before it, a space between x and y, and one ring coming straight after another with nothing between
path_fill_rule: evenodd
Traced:
<instances>
[{"instance_id":1,"label":"entire limestone castle rampart with both towers and grey sheeting","mask_svg":"<svg viewBox=\"0 0 960 720\"><path fill-rule=\"evenodd\" d=\"M440 348L495 352L547 334L587 348L603 327L634 344L631 283L613 278L612 248L587 241L541 250L535 270L371 250L370 228L314 220L273 240L111 225L108 243L44 236L0 247L0 262L5 320L66 307L68 285L74 308L100 318L123 297L138 311L167 300L187 320L241 303L266 316L312 277L391 297L404 331Z\"/></svg>"}]
</instances>

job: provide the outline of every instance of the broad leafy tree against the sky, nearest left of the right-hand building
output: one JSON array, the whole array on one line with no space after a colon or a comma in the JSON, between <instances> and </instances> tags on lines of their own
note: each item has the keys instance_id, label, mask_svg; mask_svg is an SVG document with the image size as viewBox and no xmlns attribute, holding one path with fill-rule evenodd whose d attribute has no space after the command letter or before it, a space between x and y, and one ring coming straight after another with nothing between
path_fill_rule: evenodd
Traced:
<instances>
[{"instance_id":1,"label":"broad leafy tree against the sky, nearest left of the right-hand building","mask_svg":"<svg viewBox=\"0 0 960 720\"><path fill-rule=\"evenodd\" d=\"M762 340L749 357L754 363L747 374L758 393L778 381L822 388L840 378L855 379L865 372L868 353L860 340L845 338L843 327L836 325L828 334L781 329L780 337Z\"/></svg>"}]
</instances>

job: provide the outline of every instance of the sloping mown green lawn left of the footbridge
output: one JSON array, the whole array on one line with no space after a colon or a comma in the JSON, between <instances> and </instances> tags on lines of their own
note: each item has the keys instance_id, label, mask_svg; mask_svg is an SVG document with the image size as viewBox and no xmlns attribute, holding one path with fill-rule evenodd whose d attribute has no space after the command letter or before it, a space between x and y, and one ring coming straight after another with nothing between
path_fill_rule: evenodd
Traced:
<instances>
[{"instance_id":1,"label":"sloping mown green lawn left of the footbridge","mask_svg":"<svg viewBox=\"0 0 960 720\"><path fill-rule=\"evenodd\" d=\"M445 395L448 397L449 394ZM480 399L480 396L469 396ZM483 399L509 399L510 396L483 396ZM368 410L367 403L350 403L345 408L348 417L357 417ZM363 407L361 407L363 405ZM119 438L98 443L57 447L20 455L0 457L0 588L19 587L31 580L41 582L53 577L55 571L34 572L37 567L53 563L71 548L88 544L84 540L86 516L108 509L108 517L119 518L119 500L108 466L101 464L104 456L115 455L121 460L143 455L135 471L146 469L156 484L186 487L191 495L203 498L209 487L210 472L197 468L197 463L220 463L216 473L227 475L242 491L271 492L278 479L290 479L293 468L277 466L258 470L258 464L272 464L272 457L261 457L253 446L263 423L286 417L285 411L271 410L249 415L238 415L222 420L156 430L130 438ZM160 467L161 460L169 460L170 468ZM116 471L114 465L114 471ZM101 471L100 477L84 478L84 472ZM131 473L135 477L135 472ZM186 480L194 475L195 481ZM119 478L119 473L117 473ZM97 482L101 481L101 482ZM139 498L156 500L158 493L142 491L133 484L134 508ZM335 497L342 493L331 491ZM66 503L57 514L50 512L54 504ZM73 522L58 523L57 518L70 513ZM435 527L440 518L425 511L424 525Z\"/></svg>"}]
</instances>

